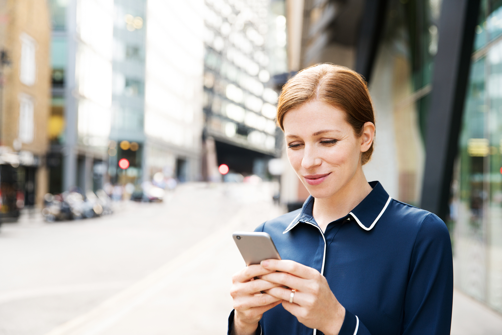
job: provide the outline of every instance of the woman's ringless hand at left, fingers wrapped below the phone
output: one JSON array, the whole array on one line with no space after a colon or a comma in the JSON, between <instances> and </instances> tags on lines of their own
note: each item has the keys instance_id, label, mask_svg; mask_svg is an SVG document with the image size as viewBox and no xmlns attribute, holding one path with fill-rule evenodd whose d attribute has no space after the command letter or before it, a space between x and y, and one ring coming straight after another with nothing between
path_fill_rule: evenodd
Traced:
<instances>
[{"instance_id":1,"label":"woman's ringless hand at left, fingers wrapped below the phone","mask_svg":"<svg viewBox=\"0 0 502 335\"><path fill-rule=\"evenodd\" d=\"M230 289L235 309L233 335L254 334L263 313L281 303L282 298L260 293L279 286L279 284L254 279L273 271L275 270L265 269L261 265L249 265L233 275L232 288Z\"/></svg>"}]
</instances>

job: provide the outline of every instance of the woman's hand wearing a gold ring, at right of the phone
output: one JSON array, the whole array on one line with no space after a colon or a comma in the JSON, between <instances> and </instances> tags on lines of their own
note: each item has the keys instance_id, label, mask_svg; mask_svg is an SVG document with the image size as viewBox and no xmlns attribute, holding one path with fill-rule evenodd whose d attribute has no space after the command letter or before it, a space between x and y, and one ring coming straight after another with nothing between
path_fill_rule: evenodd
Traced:
<instances>
[{"instance_id":1,"label":"woman's hand wearing a gold ring, at right of the phone","mask_svg":"<svg viewBox=\"0 0 502 335\"><path fill-rule=\"evenodd\" d=\"M288 260L270 259L263 261L261 265L271 273L260 278L279 284L265 292L283 299L284 308L307 327L319 329L326 335L338 334L345 318L345 308L338 302L326 278L319 271ZM291 289L296 290L293 303L289 302Z\"/></svg>"}]
</instances>

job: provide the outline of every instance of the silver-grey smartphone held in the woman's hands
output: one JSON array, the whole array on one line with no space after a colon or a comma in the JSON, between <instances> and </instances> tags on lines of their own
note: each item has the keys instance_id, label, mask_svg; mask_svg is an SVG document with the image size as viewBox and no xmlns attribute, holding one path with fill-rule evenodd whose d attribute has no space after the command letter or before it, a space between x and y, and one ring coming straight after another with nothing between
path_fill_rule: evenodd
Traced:
<instances>
[{"instance_id":1,"label":"silver-grey smartphone held in the woman's hands","mask_svg":"<svg viewBox=\"0 0 502 335\"><path fill-rule=\"evenodd\" d=\"M235 232L232 237L246 266L260 264L266 259L281 259L272 238L267 233Z\"/></svg>"}]
</instances>

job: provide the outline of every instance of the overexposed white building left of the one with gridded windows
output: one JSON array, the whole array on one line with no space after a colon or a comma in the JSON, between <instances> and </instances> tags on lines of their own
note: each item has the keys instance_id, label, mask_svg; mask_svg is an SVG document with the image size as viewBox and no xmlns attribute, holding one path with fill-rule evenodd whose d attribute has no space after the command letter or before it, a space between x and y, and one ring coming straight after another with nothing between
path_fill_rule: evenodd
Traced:
<instances>
[{"instance_id":1,"label":"overexposed white building left of the one with gridded windows","mask_svg":"<svg viewBox=\"0 0 502 335\"><path fill-rule=\"evenodd\" d=\"M145 176L201 178L202 0L149 0L145 74Z\"/></svg>"}]
</instances>

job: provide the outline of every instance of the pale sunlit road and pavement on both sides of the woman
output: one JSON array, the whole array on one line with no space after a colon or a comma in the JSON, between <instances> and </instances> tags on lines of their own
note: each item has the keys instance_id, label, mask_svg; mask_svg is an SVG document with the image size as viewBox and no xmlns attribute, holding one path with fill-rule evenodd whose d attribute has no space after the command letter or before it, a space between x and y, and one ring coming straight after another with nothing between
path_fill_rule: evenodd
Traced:
<instances>
[{"instance_id":1,"label":"pale sunlit road and pavement on both sides of the woman","mask_svg":"<svg viewBox=\"0 0 502 335\"><path fill-rule=\"evenodd\" d=\"M185 184L163 203L0 230L0 335L222 334L231 240L280 215L274 184ZM453 335L502 334L502 316L455 292Z\"/></svg>"}]
</instances>

